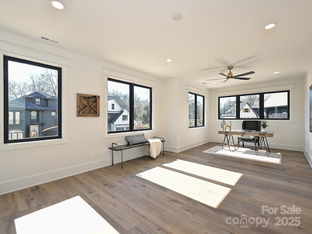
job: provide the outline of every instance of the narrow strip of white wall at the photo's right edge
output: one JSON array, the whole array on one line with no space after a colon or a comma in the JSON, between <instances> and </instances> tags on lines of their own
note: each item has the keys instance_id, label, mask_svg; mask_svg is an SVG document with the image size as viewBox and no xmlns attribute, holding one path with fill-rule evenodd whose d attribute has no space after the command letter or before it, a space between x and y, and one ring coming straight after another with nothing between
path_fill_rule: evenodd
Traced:
<instances>
[{"instance_id":1,"label":"narrow strip of white wall at the photo's right edge","mask_svg":"<svg viewBox=\"0 0 312 234\"><path fill-rule=\"evenodd\" d=\"M312 66L305 77L304 88L304 154L312 167L312 133L310 132L310 86L312 85Z\"/></svg>"}]
</instances>

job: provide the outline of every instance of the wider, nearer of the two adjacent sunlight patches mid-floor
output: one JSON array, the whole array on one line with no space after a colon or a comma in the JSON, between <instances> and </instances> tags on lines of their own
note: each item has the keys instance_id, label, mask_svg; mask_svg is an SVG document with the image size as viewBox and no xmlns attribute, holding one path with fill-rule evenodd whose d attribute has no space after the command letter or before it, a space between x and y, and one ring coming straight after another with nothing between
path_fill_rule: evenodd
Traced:
<instances>
[{"instance_id":1,"label":"wider, nearer of the two adjacent sunlight patches mid-floor","mask_svg":"<svg viewBox=\"0 0 312 234\"><path fill-rule=\"evenodd\" d=\"M161 167L152 168L137 176L214 208L231 191L230 188Z\"/></svg>"}]
</instances>

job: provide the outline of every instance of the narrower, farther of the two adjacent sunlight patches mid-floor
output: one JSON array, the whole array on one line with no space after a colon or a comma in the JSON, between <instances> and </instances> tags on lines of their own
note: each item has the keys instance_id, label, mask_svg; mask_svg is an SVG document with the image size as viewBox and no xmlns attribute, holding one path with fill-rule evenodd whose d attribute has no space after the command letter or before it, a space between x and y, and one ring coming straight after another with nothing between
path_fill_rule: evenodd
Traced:
<instances>
[{"instance_id":1,"label":"narrower, farther of the two adjacent sunlight patches mid-floor","mask_svg":"<svg viewBox=\"0 0 312 234\"><path fill-rule=\"evenodd\" d=\"M243 175L241 173L232 172L216 167L210 167L180 159L176 159L176 161L173 161L171 163L165 163L163 164L163 166L174 168L179 171L187 172L196 176L201 176L229 185L235 185L240 177Z\"/></svg>"}]
</instances>

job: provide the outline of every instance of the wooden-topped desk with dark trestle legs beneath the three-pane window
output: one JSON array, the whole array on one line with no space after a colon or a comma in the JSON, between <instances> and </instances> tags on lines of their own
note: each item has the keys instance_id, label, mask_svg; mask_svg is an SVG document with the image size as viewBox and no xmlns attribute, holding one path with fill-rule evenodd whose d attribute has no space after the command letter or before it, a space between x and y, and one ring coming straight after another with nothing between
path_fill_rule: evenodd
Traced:
<instances>
[{"instance_id":1,"label":"wooden-topped desk with dark trestle legs beneath the three-pane window","mask_svg":"<svg viewBox=\"0 0 312 234\"><path fill-rule=\"evenodd\" d=\"M228 141L228 146L229 146L229 150L230 149L230 137L232 136L232 141L233 141L233 144L234 144L234 148L235 148L235 143L234 143L234 140L233 140L233 135L239 135L239 136L252 136L252 137L260 137L260 142L259 142L259 148L262 147L262 143L264 143L264 147L265 147L265 150L267 152L267 156L269 156L268 154L268 150L270 152L270 148L269 148L269 145L268 145L268 140L267 140L267 137L273 137L274 136L274 132L266 132L266 133L263 133L261 131L252 131L252 130L249 130L249 131L244 131L244 130L231 130L231 131L226 131L226 130L219 130L219 134L224 134L224 139L223 139L223 145L222 145L222 150L223 150L223 146L224 146L224 141L225 139L227 139ZM265 141L264 141L265 140ZM267 143L267 144L266 144ZM268 147L268 150L267 150L267 147ZM259 153L259 148L258 148L258 151L257 151L257 155Z\"/></svg>"}]
</instances>

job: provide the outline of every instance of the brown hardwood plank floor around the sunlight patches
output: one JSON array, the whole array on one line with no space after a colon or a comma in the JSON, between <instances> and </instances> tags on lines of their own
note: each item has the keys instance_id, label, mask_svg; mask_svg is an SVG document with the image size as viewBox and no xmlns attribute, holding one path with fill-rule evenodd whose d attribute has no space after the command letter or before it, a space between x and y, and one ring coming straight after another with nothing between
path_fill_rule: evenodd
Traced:
<instances>
[{"instance_id":1,"label":"brown hardwood plank floor around the sunlight patches","mask_svg":"<svg viewBox=\"0 0 312 234\"><path fill-rule=\"evenodd\" d=\"M220 144L165 152L156 159L144 156L124 162L123 169L115 164L1 195L0 234L16 233L15 218L77 195L121 234L312 233L312 169L302 152L271 149L282 153L281 165L202 153L215 145ZM217 208L136 176L176 159L243 176L231 186L192 175L232 189ZM274 208L276 214L268 214Z\"/></svg>"}]
</instances>

